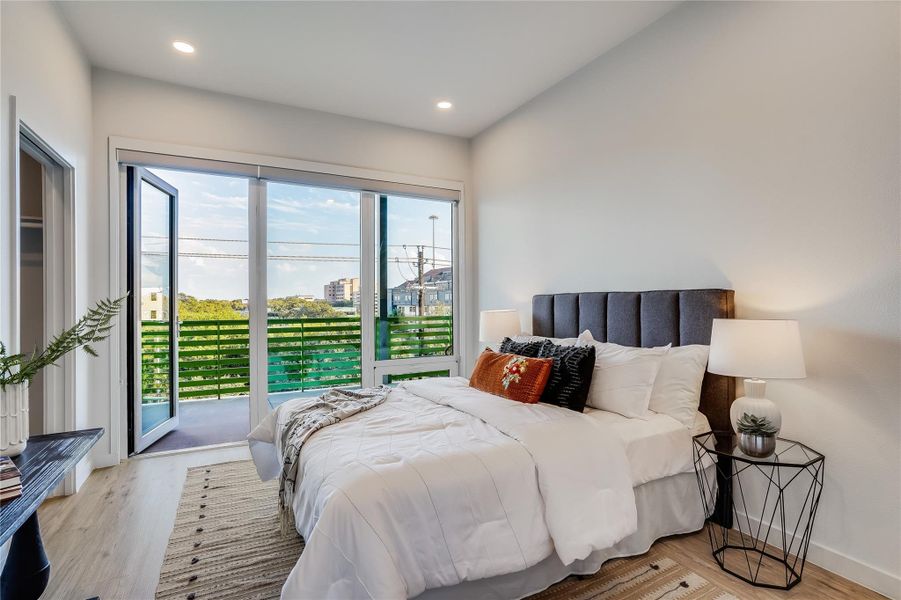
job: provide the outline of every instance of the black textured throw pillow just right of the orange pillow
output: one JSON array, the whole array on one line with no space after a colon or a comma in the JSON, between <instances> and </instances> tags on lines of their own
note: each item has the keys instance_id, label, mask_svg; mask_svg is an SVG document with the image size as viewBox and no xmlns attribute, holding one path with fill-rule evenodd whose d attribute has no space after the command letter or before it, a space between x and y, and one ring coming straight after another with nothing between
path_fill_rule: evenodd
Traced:
<instances>
[{"instance_id":1,"label":"black textured throw pillow just right of the orange pillow","mask_svg":"<svg viewBox=\"0 0 901 600\"><path fill-rule=\"evenodd\" d=\"M582 412L594 373L594 355L594 346L542 345L538 357L553 358L554 367L541 401Z\"/></svg>"}]
</instances>

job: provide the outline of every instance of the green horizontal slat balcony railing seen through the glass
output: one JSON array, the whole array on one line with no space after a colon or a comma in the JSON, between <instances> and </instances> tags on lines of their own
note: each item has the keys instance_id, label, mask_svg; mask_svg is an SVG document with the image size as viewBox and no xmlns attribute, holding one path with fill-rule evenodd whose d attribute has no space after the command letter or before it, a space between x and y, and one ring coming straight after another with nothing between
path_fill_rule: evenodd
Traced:
<instances>
[{"instance_id":1,"label":"green horizontal slat balcony railing seen through the glass","mask_svg":"<svg viewBox=\"0 0 901 600\"><path fill-rule=\"evenodd\" d=\"M450 316L389 317L390 358L453 354ZM269 392L359 385L360 318L269 319ZM143 398L168 395L168 324L141 322ZM247 320L182 321L178 338L181 398L221 398L250 393L250 328Z\"/></svg>"}]
</instances>

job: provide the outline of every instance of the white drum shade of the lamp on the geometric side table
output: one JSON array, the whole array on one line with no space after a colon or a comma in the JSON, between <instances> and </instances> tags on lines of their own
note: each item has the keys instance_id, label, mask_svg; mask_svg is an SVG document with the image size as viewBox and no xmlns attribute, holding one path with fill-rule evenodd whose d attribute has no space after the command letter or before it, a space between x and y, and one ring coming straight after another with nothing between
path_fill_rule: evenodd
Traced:
<instances>
[{"instance_id":1,"label":"white drum shade of the lamp on the geometric side table","mask_svg":"<svg viewBox=\"0 0 901 600\"><path fill-rule=\"evenodd\" d=\"M731 377L807 377L797 321L714 319L707 370Z\"/></svg>"}]
</instances>

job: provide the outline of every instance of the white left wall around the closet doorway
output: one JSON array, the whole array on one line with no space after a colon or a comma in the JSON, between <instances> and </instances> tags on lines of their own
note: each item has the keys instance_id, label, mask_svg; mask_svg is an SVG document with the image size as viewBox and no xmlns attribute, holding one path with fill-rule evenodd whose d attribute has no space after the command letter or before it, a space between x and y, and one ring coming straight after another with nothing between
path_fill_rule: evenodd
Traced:
<instances>
[{"instance_id":1,"label":"white left wall around the closet doorway","mask_svg":"<svg viewBox=\"0 0 901 600\"><path fill-rule=\"evenodd\" d=\"M75 169L76 311L81 314L98 294L85 285L93 264L86 231L91 153L91 72L80 48L46 2L0 3L0 339L11 331L12 245L10 227L14 157L11 155L10 96L16 97L19 119L48 142ZM104 295L100 291L99 295ZM76 427L87 427L92 381L90 357L79 352L76 363ZM77 469L80 483L90 473Z\"/></svg>"}]
</instances>

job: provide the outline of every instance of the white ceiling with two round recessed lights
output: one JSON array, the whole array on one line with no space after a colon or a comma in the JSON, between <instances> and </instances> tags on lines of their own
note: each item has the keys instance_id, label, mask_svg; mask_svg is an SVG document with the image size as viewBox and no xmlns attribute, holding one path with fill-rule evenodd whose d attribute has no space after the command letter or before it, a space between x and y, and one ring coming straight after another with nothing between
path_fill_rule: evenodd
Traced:
<instances>
[{"instance_id":1,"label":"white ceiling with two round recessed lights","mask_svg":"<svg viewBox=\"0 0 901 600\"><path fill-rule=\"evenodd\" d=\"M469 137L673 2L59 2L99 67ZM186 56L174 40L194 44ZM454 103L435 109L438 99Z\"/></svg>"}]
</instances>

